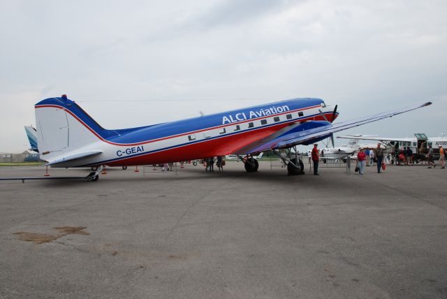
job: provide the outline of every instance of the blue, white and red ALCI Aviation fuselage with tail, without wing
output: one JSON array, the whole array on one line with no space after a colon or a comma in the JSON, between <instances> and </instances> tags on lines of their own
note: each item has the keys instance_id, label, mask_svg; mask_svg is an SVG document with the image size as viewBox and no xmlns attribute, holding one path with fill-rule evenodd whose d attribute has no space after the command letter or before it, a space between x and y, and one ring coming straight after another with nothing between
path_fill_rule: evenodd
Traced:
<instances>
[{"instance_id":1,"label":"blue, white and red ALCI Aviation fuselage with tail, without wing","mask_svg":"<svg viewBox=\"0 0 447 299\"><path fill-rule=\"evenodd\" d=\"M67 155L65 149L73 147L76 142L70 131L84 130L90 135L87 136L87 133L82 135L88 138L89 142L85 146L71 148L71 156L91 151L100 152L87 159L71 160L69 167L101 164L133 166L224 156L270 136L290 124L324 120L318 110L321 110L327 119L332 119L332 108L326 107L323 100L307 98L279 101L140 128L105 130L74 102L70 101L73 104L64 105L56 100L46 99L36 104L36 113L41 113L41 117L45 117L46 110L43 108L51 108L51 117L61 128L60 136L51 143L51 150L41 153L41 159L46 161L64 159ZM53 109L60 112L59 118L57 115L54 116ZM337 115L338 113L335 117ZM45 128L36 125L38 130L42 130L41 137L45 142ZM57 163L55 167L66 167L66 164Z\"/></svg>"}]
</instances>

